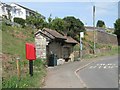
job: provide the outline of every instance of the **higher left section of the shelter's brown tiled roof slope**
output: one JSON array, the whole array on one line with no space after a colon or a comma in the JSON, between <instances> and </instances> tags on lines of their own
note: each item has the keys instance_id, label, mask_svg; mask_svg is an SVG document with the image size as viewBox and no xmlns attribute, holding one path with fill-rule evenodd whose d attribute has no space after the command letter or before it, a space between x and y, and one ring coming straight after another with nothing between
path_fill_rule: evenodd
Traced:
<instances>
[{"instance_id":1,"label":"higher left section of the shelter's brown tiled roof slope","mask_svg":"<svg viewBox=\"0 0 120 90\"><path fill-rule=\"evenodd\" d=\"M55 38L64 39L64 40L66 39L63 35L61 35L60 33L58 33L56 30L52 30L52 29L48 29L48 28L43 28L43 31L48 32L49 34L51 34Z\"/></svg>"}]
</instances>

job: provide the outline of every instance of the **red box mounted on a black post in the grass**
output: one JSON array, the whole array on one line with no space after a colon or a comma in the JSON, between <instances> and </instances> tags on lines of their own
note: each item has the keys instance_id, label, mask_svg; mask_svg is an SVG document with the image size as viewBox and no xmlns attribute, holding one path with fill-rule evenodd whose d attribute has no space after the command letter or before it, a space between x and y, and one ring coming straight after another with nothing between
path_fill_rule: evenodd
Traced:
<instances>
[{"instance_id":1,"label":"red box mounted on a black post in the grass","mask_svg":"<svg viewBox=\"0 0 120 90\"><path fill-rule=\"evenodd\" d=\"M27 60L36 60L36 50L35 45L31 43L25 44L26 48L26 59Z\"/></svg>"}]
</instances>

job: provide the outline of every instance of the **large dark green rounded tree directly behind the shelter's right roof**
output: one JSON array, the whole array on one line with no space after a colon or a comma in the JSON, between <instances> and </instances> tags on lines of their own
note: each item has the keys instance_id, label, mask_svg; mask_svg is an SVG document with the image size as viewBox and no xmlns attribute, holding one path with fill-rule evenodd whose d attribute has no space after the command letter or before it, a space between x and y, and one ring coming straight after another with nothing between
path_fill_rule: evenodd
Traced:
<instances>
[{"instance_id":1,"label":"large dark green rounded tree directly behind the shelter's right roof","mask_svg":"<svg viewBox=\"0 0 120 90\"><path fill-rule=\"evenodd\" d=\"M82 23L82 21L80 21L80 19L76 19L73 16L65 17L63 18L63 20L67 22L67 35L72 36L74 39L79 41L80 32L85 31L84 24Z\"/></svg>"}]
</instances>

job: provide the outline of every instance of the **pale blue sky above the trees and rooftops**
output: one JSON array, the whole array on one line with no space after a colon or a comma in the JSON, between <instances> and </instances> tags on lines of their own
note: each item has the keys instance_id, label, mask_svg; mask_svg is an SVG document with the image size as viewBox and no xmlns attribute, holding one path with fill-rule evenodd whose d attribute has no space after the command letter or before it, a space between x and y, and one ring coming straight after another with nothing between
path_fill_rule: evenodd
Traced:
<instances>
[{"instance_id":1,"label":"pale blue sky above the trees and rooftops","mask_svg":"<svg viewBox=\"0 0 120 90\"><path fill-rule=\"evenodd\" d=\"M4 0L3 2L7 2ZM84 2L76 0L61 0L60 2L55 0L43 1L14 1L9 0L9 3L16 2L29 9L41 13L48 18L50 14L52 18L59 17L64 18L66 16L74 16L79 18L85 26L93 26L93 6L95 5L95 24L98 20L103 20L106 27L114 27L114 22L118 18L118 1L100 1L97 0L84 0Z\"/></svg>"}]
</instances>

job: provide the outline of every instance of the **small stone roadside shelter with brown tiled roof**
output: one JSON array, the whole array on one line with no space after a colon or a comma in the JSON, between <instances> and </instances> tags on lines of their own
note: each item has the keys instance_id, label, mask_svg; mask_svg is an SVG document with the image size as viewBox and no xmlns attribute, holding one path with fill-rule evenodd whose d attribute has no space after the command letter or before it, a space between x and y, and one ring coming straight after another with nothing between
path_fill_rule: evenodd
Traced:
<instances>
[{"instance_id":1,"label":"small stone roadside shelter with brown tiled roof","mask_svg":"<svg viewBox=\"0 0 120 90\"><path fill-rule=\"evenodd\" d=\"M51 54L55 54L58 59L66 61L74 60L73 47L78 42L70 36L64 36L56 30L43 28L35 33L35 45L37 58L49 60Z\"/></svg>"}]
</instances>

